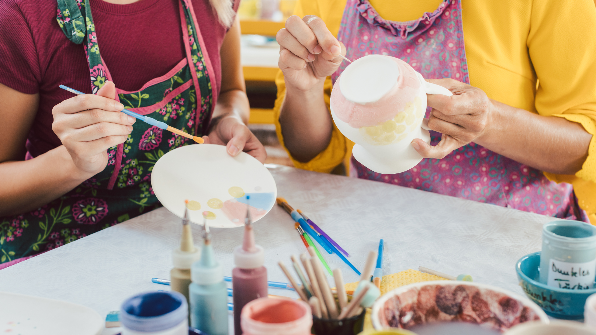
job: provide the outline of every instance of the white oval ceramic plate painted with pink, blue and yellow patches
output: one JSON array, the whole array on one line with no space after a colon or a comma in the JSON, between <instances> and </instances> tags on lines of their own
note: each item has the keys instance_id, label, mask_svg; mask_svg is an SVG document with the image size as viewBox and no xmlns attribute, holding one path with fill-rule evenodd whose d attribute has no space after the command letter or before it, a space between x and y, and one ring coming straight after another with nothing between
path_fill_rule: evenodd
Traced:
<instances>
[{"instance_id":1,"label":"white oval ceramic plate painted with pink, blue and yellow patches","mask_svg":"<svg viewBox=\"0 0 596 335\"><path fill-rule=\"evenodd\" d=\"M225 146L214 144L182 146L163 155L153 167L151 187L179 217L188 199L193 223L202 225L202 213L209 211L209 227L215 228L244 225L246 195L253 222L271 210L277 197L273 176L256 158L246 152L232 157Z\"/></svg>"}]
</instances>

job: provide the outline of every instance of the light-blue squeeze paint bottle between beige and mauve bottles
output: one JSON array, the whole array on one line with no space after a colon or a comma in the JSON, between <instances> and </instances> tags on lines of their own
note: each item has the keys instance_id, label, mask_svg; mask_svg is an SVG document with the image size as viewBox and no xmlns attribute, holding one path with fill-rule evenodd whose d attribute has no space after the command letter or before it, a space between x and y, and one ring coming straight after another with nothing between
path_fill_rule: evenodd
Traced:
<instances>
[{"instance_id":1,"label":"light-blue squeeze paint bottle between beige and mauve bottles","mask_svg":"<svg viewBox=\"0 0 596 335\"><path fill-rule=\"evenodd\" d=\"M191 325L209 335L228 335L228 287L224 283L224 271L213 255L206 215L203 212L201 259L191 268L193 282L188 287Z\"/></svg>"}]
</instances>

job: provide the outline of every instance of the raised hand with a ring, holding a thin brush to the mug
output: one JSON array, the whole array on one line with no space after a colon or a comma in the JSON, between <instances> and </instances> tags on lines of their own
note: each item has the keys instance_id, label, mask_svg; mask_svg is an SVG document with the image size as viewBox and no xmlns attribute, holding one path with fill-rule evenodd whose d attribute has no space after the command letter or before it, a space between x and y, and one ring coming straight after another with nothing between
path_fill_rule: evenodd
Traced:
<instances>
[{"instance_id":1,"label":"raised hand with a ring, holding a thin brush to the mug","mask_svg":"<svg viewBox=\"0 0 596 335\"><path fill-rule=\"evenodd\" d=\"M315 15L302 19L292 15L276 37L280 43L278 65L284 73L285 84L300 90L309 90L317 82L324 82L342 63L341 55L346 55L343 43Z\"/></svg>"}]
</instances>

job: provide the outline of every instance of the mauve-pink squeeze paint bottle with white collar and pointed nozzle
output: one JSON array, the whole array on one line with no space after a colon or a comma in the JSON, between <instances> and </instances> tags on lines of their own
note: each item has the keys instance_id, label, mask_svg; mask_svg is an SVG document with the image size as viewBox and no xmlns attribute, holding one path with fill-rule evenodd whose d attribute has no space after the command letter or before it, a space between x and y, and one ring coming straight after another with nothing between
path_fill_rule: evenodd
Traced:
<instances>
[{"instance_id":1,"label":"mauve-pink squeeze paint bottle with white collar and pointed nozzle","mask_svg":"<svg viewBox=\"0 0 596 335\"><path fill-rule=\"evenodd\" d=\"M244 220L244 240L241 246L234 249L232 270L232 289L234 290L234 334L242 334L240 313L247 303L267 296L267 269L265 251L262 246L254 244L254 231L250 217L250 196L246 196L247 211Z\"/></svg>"}]
</instances>

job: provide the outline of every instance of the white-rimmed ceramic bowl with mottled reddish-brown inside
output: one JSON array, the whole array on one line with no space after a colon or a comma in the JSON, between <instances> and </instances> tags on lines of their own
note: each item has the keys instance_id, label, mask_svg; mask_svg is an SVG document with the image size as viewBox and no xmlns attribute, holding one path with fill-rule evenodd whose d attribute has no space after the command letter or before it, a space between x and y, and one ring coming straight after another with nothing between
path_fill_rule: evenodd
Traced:
<instances>
[{"instance_id":1,"label":"white-rimmed ceramic bowl with mottled reddish-brown inside","mask_svg":"<svg viewBox=\"0 0 596 335\"><path fill-rule=\"evenodd\" d=\"M464 322L503 333L527 321L548 323L529 299L499 287L470 281L424 281L398 287L381 296L371 316L377 330Z\"/></svg>"}]
</instances>

